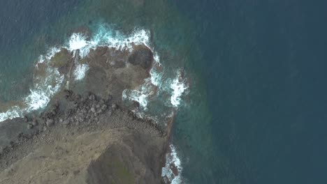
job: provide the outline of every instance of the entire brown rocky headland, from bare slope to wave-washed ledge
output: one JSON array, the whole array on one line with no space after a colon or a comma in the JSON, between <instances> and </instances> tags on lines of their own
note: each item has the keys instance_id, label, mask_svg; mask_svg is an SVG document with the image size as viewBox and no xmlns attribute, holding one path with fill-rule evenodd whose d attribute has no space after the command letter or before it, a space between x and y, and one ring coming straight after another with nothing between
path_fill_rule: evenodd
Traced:
<instances>
[{"instance_id":1,"label":"entire brown rocky headland, from bare slope to wave-washed ledge","mask_svg":"<svg viewBox=\"0 0 327 184\"><path fill-rule=\"evenodd\" d=\"M52 67L69 86L43 112L0 123L0 183L164 183L173 120L161 127L122 102L124 89L150 76L152 61L145 45L98 47L84 59L62 49ZM80 64L89 67L83 81L73 79Z\"/></svg>"}]
</instances>

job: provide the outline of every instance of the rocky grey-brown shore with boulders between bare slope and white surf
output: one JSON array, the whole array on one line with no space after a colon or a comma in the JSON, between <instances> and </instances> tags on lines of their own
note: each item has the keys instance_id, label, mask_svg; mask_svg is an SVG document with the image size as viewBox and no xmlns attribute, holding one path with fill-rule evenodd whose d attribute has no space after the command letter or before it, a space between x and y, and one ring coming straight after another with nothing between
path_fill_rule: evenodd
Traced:
<instances>
[{"instance_id":1,"label":"rocky grey-brown shore with boulders between bare slope and white surf","mask_svg":"<svg viewBox=\"0 0 327 184\"><path fill-rule=\"evenodd\" d=\"M152 164L148 164L147 159L143 159L143 162L140 161L138 165L142 165L143 170L149 170L150 175L145 174L143 178L136 177L134 179L147 181L148 178L152 178L153 182L156 181L155 183L167 183L167 180L163 181L161 177L161 169L165 167L166 154L169 151L175 112L168 122L163 123L166 126L163 126L154 123L151 119L138 118L132 111L132 109L138 109L140 105L138 102L127 106L122 102L122 91L133 90L143 85L144 79L150 76L150 68L154 60L150 48L144 45L133 47L131 53L121 52L110 47L96 47L96 49L90 49L89 54L83 59L80 59L78 49L72 52L73 54L65 54L66 51L61 49L59 54L52 56L49 62L57 67L62 75L66 76L66 84L69 85L66 87L69 90L54 95L44 112L39 115L31 113L27 115L29 117L8 119L1 123L0 132L3 132L3 135L0 137L0 174L10 176L10 178L15 178L13 177L15 174L19 176L20 170L15 172L15 169L10 167L18 162L28 160L28 155L34 153L36 145L41 145L40 148L43 148L45 144L56 141L59 144L60 141L56 138L58 135L55 133L64 135L62 137L64 138L106 130L119 132L121 131L119 128L123 128L131 135L150 136L157 140L155 142L149 138L143 138L143 145L140 146L140 149L142 150L142 147L145 146L145 150L152 154L147 159L153 161ZM63 60L69 62L62 62ZM89 67L84 82L72 80L72 68L80 62L87 63ZM112 117L114 117L113 120L110 120ZM119 136L124 139L125 135ZM127 141L139 140L129 139ZM125 145L125 143L119 144ZM151 149L147 146L150 146ZM99 155L99 158L106 158L107 147L110 145L103 148L103 154ZM127 146L127 148L129 150L139 149L133 146ZM157 152L151 150L157 150ZM140 158L143 158L143 155L149 154L143 150L138 152L138 155L131 153L131 155L125 156L142 160ZM158 160L160 161L158 162ZM89 163L96 162L94 159L88 161ZM125 162L125 160L120 161ZM28 160L28 162L32 161ZM127 165L131 165L129 161L126 162L128 162ZM89 166L82 168L88 169ZM131 167L129 169L133 172L140 168ZM153 173L154 170L157 172ZM73 176L75 177L75 174ZM91 177L87 174L84 176ZM96 176L93 179L101 179L101 177L103 176ZM115 176L110 179L119 181L119 178L115 178Z\"/></svg>"}]
</instances>

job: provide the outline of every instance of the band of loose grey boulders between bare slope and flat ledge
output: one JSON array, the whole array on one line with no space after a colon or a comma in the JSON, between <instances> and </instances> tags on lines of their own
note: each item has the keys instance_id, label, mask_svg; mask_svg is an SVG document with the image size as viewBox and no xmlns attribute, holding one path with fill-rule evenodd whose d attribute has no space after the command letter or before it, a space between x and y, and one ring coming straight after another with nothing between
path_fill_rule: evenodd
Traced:
<instances>
[{"instance_id":1,"label":"band of loose grey boulders between bare slope and flat ledge","mask_svg":"<svg viewBox=\"0 0 327 184\"><path fill-rule=\"evenodd\" d=\"M108 98L98 98L93 93L80 95L73 91L65 90L63 102L55 101L48 110L41 113L41 116L24 117L27 128L36 128L38 125L40 130L47 130L48 127L59 125L80 125L82 123L90 124L99 121L99 115L106 113L110 116L118 105L112 102L112 96Z\"/></svg>"}]
</instances>

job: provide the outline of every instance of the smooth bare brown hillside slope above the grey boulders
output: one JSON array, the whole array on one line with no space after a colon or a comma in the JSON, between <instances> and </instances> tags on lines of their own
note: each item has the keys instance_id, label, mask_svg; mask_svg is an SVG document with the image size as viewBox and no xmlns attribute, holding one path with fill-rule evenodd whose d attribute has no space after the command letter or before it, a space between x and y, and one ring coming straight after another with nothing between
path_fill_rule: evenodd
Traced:
<instances>
[{"instance_id":1,"label":"smooth bare brown hillside slope above the grey boulders","mask_svg":"<svg viewBox=\"0 0 327 184\"><path fill-rule=\"evenodd\" d=\"M160 171L147 153L158 154L158 137L150 139L127 128L61 137L61 131L0 173L0 183L159 183ZM57 135L56 135L57 134ZM57 136L57 137L52 137ZM137 141L134 142L133 139ZM160 141L160 140L159 140ZM162 141L162 140L161 140ZM156 153L158 152L158 153ZM151 160L156 162L157 160ZM152 170L154 169L154 170ZM156 171L156 172L154 172Z\"/></svg>"}]
</instances>

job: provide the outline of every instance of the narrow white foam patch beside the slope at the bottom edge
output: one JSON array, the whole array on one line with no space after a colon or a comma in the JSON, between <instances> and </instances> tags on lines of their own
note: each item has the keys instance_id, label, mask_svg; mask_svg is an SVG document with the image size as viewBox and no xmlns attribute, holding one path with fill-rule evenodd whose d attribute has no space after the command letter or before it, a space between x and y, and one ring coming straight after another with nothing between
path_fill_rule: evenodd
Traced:
<instances>
[{"instance_id":1,"label":"narrow white foam patch beside the slope at the bottom edge","mask_svg":"<svg viewBox=\"0 0 327 184\"><path fill-rule=\"evenodd\" d=\"M180 162L180 158L178 158L176 148L173 144L170 144L170 152L166 153L166 165L162 168L161 176L167 177L170 183L172 184L180 184L182 183L182 163ZM173 164L178 171L178 175L175 176L173 170L170 169L170 165Z\"/></svg>"}]
</instances>

